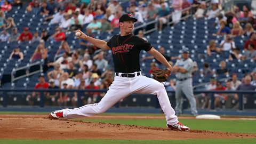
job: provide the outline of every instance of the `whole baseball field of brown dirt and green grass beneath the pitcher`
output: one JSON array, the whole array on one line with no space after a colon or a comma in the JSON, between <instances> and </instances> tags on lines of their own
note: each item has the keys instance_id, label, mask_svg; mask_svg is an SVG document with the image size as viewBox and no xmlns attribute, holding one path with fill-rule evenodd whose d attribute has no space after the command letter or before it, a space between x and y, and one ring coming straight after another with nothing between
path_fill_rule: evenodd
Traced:
<instances>
[{"instance_id":1,"label":"whole baseball field of brown dirt and green grass beneath the pitcher","mask_svg":"<svg viewBox=\"0 0 256 144\"><path fill-rule=\"evenodd\" d=\"M49 119L47 113L0 112L0 143L256 143L256 118L180 116L189 132L166 129L162 114Z\"/></svg>"}]
</instances>

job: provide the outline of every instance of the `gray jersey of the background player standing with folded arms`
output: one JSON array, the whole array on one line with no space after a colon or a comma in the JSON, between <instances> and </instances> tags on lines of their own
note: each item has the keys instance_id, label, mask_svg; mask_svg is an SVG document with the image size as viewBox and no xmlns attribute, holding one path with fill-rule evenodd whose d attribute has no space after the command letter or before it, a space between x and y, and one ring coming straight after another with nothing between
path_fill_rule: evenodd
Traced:
<instances>
[{"instance_id":1,"label":"gray jersey of the background player standing with folded arms","mask_svg":"<svg viewBox=\"0 0 256 144\"><path fill-rule=\"evenodd\" d=\"M185 74L182 73L177 73L176 77L178 79L182 79L182 78L188 78L188 77L192 77L192 69L193 69L193 60L191 60L190 58L188 58L187 60L177 60L177 62L175 63L174 66L179 66L179 67L183 67L185 68L188 72Z\"/></svg>"}]
</instances>

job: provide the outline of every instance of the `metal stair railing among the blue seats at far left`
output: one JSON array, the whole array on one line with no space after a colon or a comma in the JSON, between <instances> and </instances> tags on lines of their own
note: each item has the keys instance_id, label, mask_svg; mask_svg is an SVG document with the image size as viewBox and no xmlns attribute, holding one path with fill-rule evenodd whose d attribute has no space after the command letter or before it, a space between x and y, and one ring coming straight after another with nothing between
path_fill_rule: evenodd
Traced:
<instances>
[{"instance_id":1,"label":"metal stair railing among the blue seats at far left","mask_svg":"<svg viewBox=\"0 0 256 144\"><path fill-rule=\"evenodd\" d=\"M36 65L40 65L40 69L35 70L35 71L33 71L33 72L30 73L29 70L28 70L28 68L33 67L33 66L36 66ZM26 74L25 74L25 75L18 76L18 77L14 77L14 74L15 74L17 71L22 70L22 69L26 70ZM24 66L24 67L14 68L14 69L12 70L12 73L11 73L11 81L14 82L14 81L17 81L17 80L20 79L20 78L27 77L27 76L31 76L31 75L34 75L34 74L36 74L36 73L42 73L42 72L43 72L42 62L41 62L41 61L37 61L37 62L35 62L35 63L31 63L31 64L29 64L29 65L27 65L27 66Z\"/></svg>"}]
</instances>

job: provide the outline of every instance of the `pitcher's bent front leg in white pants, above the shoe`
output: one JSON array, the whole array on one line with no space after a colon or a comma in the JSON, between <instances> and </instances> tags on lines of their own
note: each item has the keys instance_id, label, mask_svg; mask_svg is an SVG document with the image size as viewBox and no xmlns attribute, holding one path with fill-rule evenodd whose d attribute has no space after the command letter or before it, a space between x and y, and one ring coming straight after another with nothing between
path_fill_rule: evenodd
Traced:
<instances>
[{"instance_id":1,"label":"pitcher's bent front leg in white pants, above the shoe","mask_svg":"<svg viewBox=\"0 0 256 144\"><path fill-rule=\"evenodd\" d=\"M164 111L167 124L177 124L178 117L175 116L175 111L171 107L170 100L163 84L157 82L155 79L146 76L140 76L137 82L132 85L134 93L149 93L157 95L159 104Z\"/></svg>"}]
</instances>

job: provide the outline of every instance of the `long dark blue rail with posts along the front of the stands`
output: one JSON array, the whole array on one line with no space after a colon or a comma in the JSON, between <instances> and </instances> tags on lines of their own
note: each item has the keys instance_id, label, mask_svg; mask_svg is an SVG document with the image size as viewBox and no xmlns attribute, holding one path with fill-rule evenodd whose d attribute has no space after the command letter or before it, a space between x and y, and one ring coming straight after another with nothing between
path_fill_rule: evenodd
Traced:
<instances>
[{"instance_id":1,"label":"long dark blue rail with posts along the front of the stands","mask_svg":"<svg viewBox=\"0 0 256 144\"><path fill-rule=\"evenodd\" d=\"M7 102L7 97L8 93L14 93L14 92L39 92L39 106L44 107L44 93L45 92L77 92L77 107L81 107L83 105L81 96L84 92L107 92L107 90L60 90L60 89L47 89L47 90L34 90L34 89L0 89L0 95L3 95L1 98L2 105L3 107L7 107L8 102ZM169 94L174 94L175 91L167 91ZM256 94L255 91L194 91L194 94L200 94L200 93L205 93L209 94L211 103L210 103L210 108L214 109L214 94L216 93L221 93L221 94L237 94L238 95L238 101L239 101L239 110L244 110L244 94ZM151 94L145 94L145 95L151 95ZM128 96L129 97L129 96ZM254 96L253 96L254 97ZM154 97L157 99L157 97ZM145 101L142 101L145 102ZM157 103L156 103L157 105ZM157 106L156 106L157 107ZM255 107L256 108L256 107Z\"/></svg>"}]
</instances>

